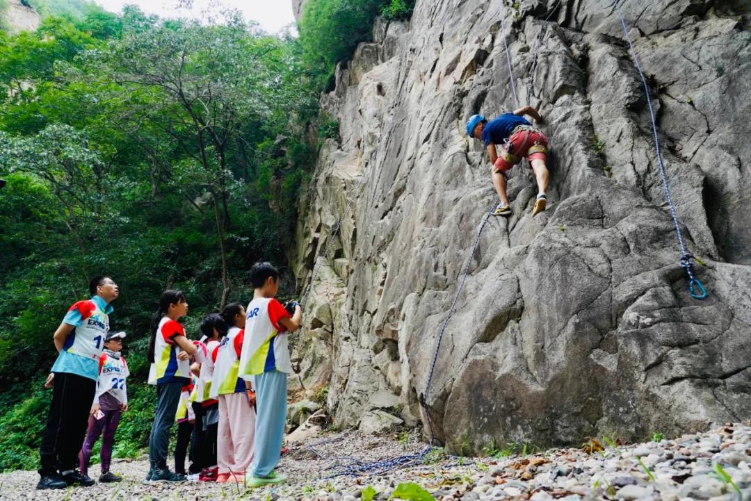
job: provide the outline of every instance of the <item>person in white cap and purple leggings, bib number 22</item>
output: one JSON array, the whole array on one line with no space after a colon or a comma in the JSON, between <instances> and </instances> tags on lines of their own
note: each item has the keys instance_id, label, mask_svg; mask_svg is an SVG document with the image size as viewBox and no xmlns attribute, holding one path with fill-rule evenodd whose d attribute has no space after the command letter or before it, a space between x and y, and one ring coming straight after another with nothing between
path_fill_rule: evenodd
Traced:
<instances>
[{"instance_id":1,"label":"person in white cap and purple leggings, bib number 22","mask_svg":"<svg viewBox=\"0 0 751 501\"><path fill-rule=\"evenodd\" d=\"M115 431L121 414L128 410L125 379L130 373L125 357L121 354L122 338L125 338L125 332L113 332L108 334L107 341L104 341L104 353L99 358L99 379L89 417L89 430L86 432L86 440L83 440L79 455L80 472L88 475L92 449L101 435L101 482L122 480L122 477L110 472Z\"/></svg>"}]
</instances>

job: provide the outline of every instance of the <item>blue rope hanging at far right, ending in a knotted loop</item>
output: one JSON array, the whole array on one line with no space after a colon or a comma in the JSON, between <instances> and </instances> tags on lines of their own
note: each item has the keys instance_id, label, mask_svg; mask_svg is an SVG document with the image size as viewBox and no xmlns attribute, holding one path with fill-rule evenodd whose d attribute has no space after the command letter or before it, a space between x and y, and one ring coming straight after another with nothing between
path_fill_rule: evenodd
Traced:
<instances>
[{"instance_id":1,"label":"blue rope hanging at far right, ending in a knotted loop","mask_svg":"<svg viewBox=\"0 0 751 501\"><path fill-rule=\"evenodd\" d=\"M618 17L620 17L620 24L621 26L623 26L623 34L626 36L626 41L629 42L629 47L631 47L631 53L634 56L636 71L638 71L639 77L641 77L641 83L644 84L644 95L647 96L647 107L649 108L650 120L652 121L652 136L655 141L655 151L657 155L657 165L659 166L659 174L662 177L662 187L665 190L665 199L668 200L668 205L670 206L670 214L673 217L675 233L678 236L678 245L680 245L680 266L683 266L683 269L686 270L686 275L689 276L689 296L694 299L707 299L707 290L704 289L704 285L701 284L701 281L699 281L698 278L695 278L694 276L692 263L692 259L694 257L686 248L686 242L683 240L683 232L680 230L680 223L678 221L678 214L673 203L673 197L670 194L668 175L665 172L665 165L662 163L662 153L659 147L657 123L655 121L655 113L652 107L652 98L650 97L650 87L647 85L647 79L644 77L644 72L641 71L639 57L636 54L636 49L634 48L634 44L631 41L631 37L629 36L629 30L628 28L626 28L626 20L623 19L623 13L621 12L620 6L618 5L618 0L614 0L613 6L615 7L615 11L618 14Z\"/></svg>"}]
</instances>

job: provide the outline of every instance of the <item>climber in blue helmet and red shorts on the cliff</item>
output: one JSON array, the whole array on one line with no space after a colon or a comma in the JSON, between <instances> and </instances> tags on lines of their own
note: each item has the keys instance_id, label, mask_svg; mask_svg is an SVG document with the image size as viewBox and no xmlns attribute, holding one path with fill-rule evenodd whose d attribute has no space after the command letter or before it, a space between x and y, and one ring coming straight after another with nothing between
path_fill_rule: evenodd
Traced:
<instances>
[{"instance_id":1,"label":"climber in blue helmet and red shorts on the cliff","mask_svg":"<svg viewBox=\"0 0 751 501\"><path fill-rule=\"evenodd\" d=\"M467 135L484 142L490 163L493 164L490 177L501 199L493 211L493 215L496 216L511 214L511 206L508 205L506 195L506 176L511 166L519 163L523 157L529 158L529 164L537 179L538 193L535 206L532 208L532 216L544 211L547 204L547 137L541 130L532 126L523 115L531 116L538 123L542 121L537 110L526 106L514 113L503 113L491 121L487 121L482 115L472 115L467 122ZM499 153L496 145L502 145Z\"/></svg>"}]
</instances>

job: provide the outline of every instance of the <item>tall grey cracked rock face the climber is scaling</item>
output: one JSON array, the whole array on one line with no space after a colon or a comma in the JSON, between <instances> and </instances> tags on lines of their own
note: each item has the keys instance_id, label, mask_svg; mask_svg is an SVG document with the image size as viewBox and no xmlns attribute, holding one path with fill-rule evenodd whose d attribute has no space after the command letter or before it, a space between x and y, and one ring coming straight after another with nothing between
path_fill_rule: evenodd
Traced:
<instances>
[{"instance_id":1,"label":"tall grey cracked rock face the climber is scaling","mask_svg":"<svg viewBox=\"0 0 751 501\"><path fill-rule=\"evenodd\" d=\"M429 433L419 401L468 263L425 399L448 446L638 440L751 417L749 7L647 3L622 9L709 298L688 295L614 11L594 0L418 0L409 24L377 23L375 42L336 71L321 105L341 139L321 148L300 203L300 287L316 272L296 381L306 392L330 385L336 425L360 425L387 393L389 413ZM473 113L517 107L512 82L550 137L548 209L531 217L536 188L514 167L514 214L491 217L470 256L496 196L464 127Z\"/></svg>"}]
</instances>

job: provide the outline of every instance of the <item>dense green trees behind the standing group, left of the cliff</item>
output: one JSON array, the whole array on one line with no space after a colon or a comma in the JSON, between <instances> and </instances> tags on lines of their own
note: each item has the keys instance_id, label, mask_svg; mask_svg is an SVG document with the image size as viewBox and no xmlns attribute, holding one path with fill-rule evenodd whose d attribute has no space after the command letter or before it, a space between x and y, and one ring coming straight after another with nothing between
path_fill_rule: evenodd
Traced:
<instances>
[{"instance_id":1,"label":"dense green trees behind the standing group, left of the cliff","mask_svg":"<svg viewBox=\"0 0 751 501\"><path fill-rule=\"evenodd\" d=\"M3 470L38 466L51 338L99 274L119 284L110 325L128 332L130 409L114 454L140 454L153 419L144 352L159 294L185 292L186 332L197 338L205 314L252 296L252 263L272 260L284 273L316 156L302 131L318 115L317 93L300 79L297 40L237 19L167 23L75 1L56 17L59 3L36 5L47 9L38 31L0 33ZM170 87L178 74L182 89ZM292 296L292 281L282 285Z\"/></svg>"}]
</instances>

